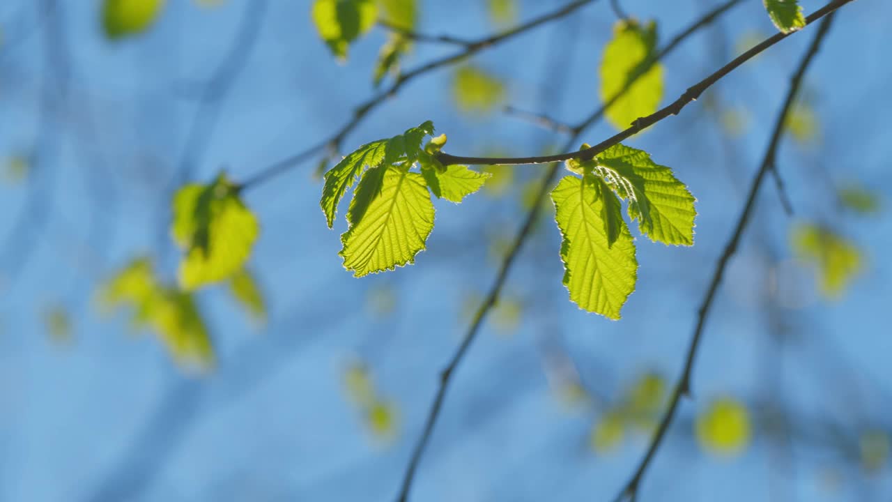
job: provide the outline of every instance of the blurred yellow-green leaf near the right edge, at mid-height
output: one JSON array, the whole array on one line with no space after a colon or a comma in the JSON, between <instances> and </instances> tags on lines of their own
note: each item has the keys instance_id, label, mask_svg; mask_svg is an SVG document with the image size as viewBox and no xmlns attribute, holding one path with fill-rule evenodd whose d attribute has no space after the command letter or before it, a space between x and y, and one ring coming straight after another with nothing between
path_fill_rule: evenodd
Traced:
<instances>
[{"instance_id":1,"label":"blurred yellow-green leaf near the right edge, at mid-height","mask_svg":"<svg viewBox=\"0 0 892 502\"><path fill-rule=\"evenodd\" d=\"M861 272L861 251L832 230L810 223L799 224L792 230L791 246L800 260L816 266L825 297L840 297Z\"/></svg>"}]
</instances>

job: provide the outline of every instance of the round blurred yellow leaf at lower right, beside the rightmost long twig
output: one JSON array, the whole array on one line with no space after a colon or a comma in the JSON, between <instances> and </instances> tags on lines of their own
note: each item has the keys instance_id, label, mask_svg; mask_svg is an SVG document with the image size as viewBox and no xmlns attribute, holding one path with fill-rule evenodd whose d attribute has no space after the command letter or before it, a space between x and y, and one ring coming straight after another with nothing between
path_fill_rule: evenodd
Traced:
<instances>
[{"instance_id":1,"label":"round blurred yellow leaf at lower right, beside the rightmost long twig","mask_svg":"<svg viewBox=\"0 0 892 502\"><path fill-rule=\"evenodd\" d=\"M695 431L700 448L720 456L737 456L749 444L749 413L736 399L721 397L697 416Z\"/></svg>"}]
</instances>

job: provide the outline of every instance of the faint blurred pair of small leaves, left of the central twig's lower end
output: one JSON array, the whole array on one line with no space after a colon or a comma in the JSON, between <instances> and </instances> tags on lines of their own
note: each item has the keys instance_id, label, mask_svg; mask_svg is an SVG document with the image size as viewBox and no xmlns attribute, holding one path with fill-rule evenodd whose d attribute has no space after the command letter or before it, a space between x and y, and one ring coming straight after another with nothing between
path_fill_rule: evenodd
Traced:
<instances>
[{"instance_id":1,"label":"faint blurred pair of small leaves, left of the central twig's lower end","mask_svg":"<svg viewBox=\"0 0 892 502\"><path fill-rule=\"evenodd\" d=\"M359 407L368 431L379 439L393 439L399 423L397 408L379 395L366 364L348 365L343 386L351 403Z\"/></svg>"}]
</instances>

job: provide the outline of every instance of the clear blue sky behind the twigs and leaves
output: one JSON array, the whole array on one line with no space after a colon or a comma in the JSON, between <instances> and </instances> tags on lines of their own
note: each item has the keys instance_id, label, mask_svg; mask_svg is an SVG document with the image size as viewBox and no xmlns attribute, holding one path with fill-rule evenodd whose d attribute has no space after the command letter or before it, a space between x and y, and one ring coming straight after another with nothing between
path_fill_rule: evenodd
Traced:
<instances>
[{"instance_id":1,"label":"clear blue sky behind the twigs and leaves","mask_svg":"<svg viewBox=\"0 0 892 502\"><path fill-rule=\"evenodd\" d=\"M439 201L417 263L361 280L337 256L343 219L328 230L318 210L315 163L253 189L246 203L262 234L251 265L268 298L268 325L254 330L225 290L202 292L219 364L207 375L184 373L150 333L134 335L124 316L97 314L92 298L98 281L135 255L158 256L162 273L173 278L176 250L164 211L171 175L190 158L190 128L208 120L195 89L216 70L251 6L170 1L145 36L110 44L99 29L98 3L65 3L59 22L70 56L69 95L50 113L51 125L41 127L41 97L53 92L58 73L46 77L47 24L34 4L0 5L0 158L36 151L42 159L28 183L0 187L7 259L0 263L0 500L392 499L439 372L467 328L463 305L494 279L491 238L516 231L521 186L541 167L518 167L516 187L503 197ZM245 179L326 138L372 93L382 30L351 46L350 60L339 64L318 40L308 1L269 4L219 116L198 126L207 145L191 157L193 180L211 180L220 169ZM419 30L474 38L493 29L483 2L421 4ZM529 19L558 4L521 2L520 15ZM666 40L714 3L623 4L642 19L656 18ZM805 12L822 5L802 4ZM887 201L892 195L885 123L892 68L884 63L890 14L880 0L848 4L809 71L820 138L809 146L786 140L779 159L795 214L783 213L767 183L707 324L696 398L682 405L642 499L769 497L775 441L757 433L745 453L726 460L698 448L691 423L712 397L731 395L756 409L780 396L802 431L838 423L849 446L865 428L892 431L882 385L892 377L892 341L883 328L892 279L883 258L892 228L886 213L839 211L827 178L863 184ZM598 105L600 50L614 21L602 0L474 63L508 81L508 103L578 121ZM665 60L664 103L727 61L738 40L772 29L752 0L690 38ZM557 343L606 399L619 398L642 372L674 381L698 302L767 144L762 124L771 123L813 35L809 28L783 41L716 88L719 103L747 110L744 135L723 139L705 97L632 139L689 185L699 215L694 247L637 239L638 289L622 321L569 302L559 279L558 231L542 222L503 296L524 305L524 313L510 333L487 323L459 367L415 500L614 496L646 438L634 436L609 454L591 451L591 424L605 408L562 405L549 387L543 347ZM418 45L406 66L453 50ZM371 113L345 148L425 120L449 135L454 154L533 155L565 140L501 113L462 115L450 75L444 69L411 82ZM612 133L598 124L584 138L593 143ZM39 204L29 205L29 197ZM808 271L792 264L788 234L797 221L829 224L863 251L867 267L840 300L818 297ZM769 277L780 278L780 293L767 289ZM391 314L368 308L370 292L383 289L396 298ZM46 336L42 313L51 305L70 313L70 344ZM789 335L780 356L770 343L771 315ZM358 359L398 409L389 442L369 434L345 397L344 368ZM766 368L777 370L776 378ZM809 500L888 498L888 468L867 475L839 453L845 448L827 448L825 434L815 437L803 433L794 441L794 462L781 464L788 466L780 476L784 489Z\"/></svg>"}]
</instances>

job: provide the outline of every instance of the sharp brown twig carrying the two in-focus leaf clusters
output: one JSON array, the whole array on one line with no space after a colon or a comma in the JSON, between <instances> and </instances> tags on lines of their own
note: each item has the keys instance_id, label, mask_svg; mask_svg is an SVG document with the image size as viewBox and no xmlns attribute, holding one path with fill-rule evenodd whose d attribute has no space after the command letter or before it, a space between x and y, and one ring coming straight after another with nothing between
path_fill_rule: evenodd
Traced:
<instances>
[{"instance_id":1,"label":"sharp brown twig carrying the two in-focus leaf clusters","mask_svg":"<svg viewBox=\"0 0 892 502\"><path fill-rule=\"evenodd\" d=\"M834 0L833 2L830 2L830 4L824 5L821 9L815 11L807 18L805 18L805 24L811 24L814 21L821 19L825 15L836 11L839 7L852 1L853 0ZM533 157L472 157L450 155L445 152L440 152L439 154L437 154L437 160L439 160L444 165L458 163L474 165L511 165L563 162L569 159L591 160L592 158L594 158L595 155L600 154L610 146L616 145L620 141L623 141L625 138L630 138L635 134L638 134L640 131L647 129L648 127L656 124L658 121L662 121L666 117L669 117L670 115L677 115L681 113L682 108L690 104L692 101L696 101L697 98L701 94L703 94L703 92L706 91L707 88L710 88L715 82L719 81L724 76L731 73L731 71L736 70L741 64L746 63L750 59L756 57L756 55L761 54L768 47L777 44L778 42L780 42L780 40L789 37L793 33L797 32L792 31L789 33L777 33L771 38L766 38L762 43L749 49L747 52L740 54L737 58L731 61L731 63L724 65L721 69L706 77L706 79L700 80L696 85L688 88L688 90L685 91L684 94L682 94L672 104L665 106L663 109L658 110L656 113L652 113L647 117L636 119L632 122L632 126L628 129L615 134L611 138L605 139L598 145L591 146L584 150L567 152L566 154L541 155Z\"/></svg>"}]
</instances>

